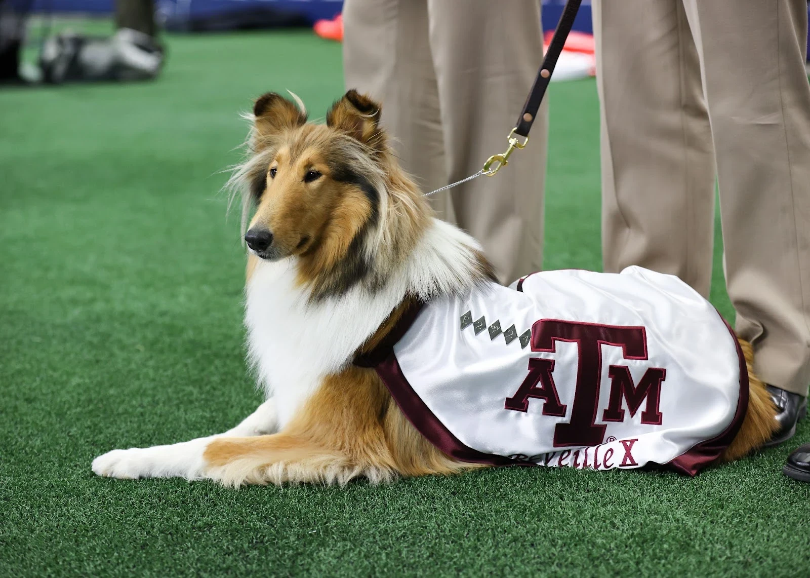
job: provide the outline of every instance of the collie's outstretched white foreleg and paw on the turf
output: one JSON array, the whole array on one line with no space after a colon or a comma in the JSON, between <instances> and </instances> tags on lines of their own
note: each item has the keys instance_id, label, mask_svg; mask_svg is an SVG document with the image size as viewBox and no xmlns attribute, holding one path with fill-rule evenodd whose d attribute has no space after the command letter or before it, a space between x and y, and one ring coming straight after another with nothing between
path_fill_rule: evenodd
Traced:
<instances>
[{"instance_id":1,"label":"collie's outstretched white foreleg and paw on the turf","mask_svg":"<svg viewBox=\"0 0 810 578\"><path fill-rule=\"evenodd\" d=\"M209 435L188 442L164 446L130 447L128 450L113 450L98 456L92 470L100 476L139 477L185 477L197 480L203 475L203 452L214 439L232 436L246 437L271 434L278 430L275 402L266 400L238 426L220 435Z\"/></svg>"}]
</instances>

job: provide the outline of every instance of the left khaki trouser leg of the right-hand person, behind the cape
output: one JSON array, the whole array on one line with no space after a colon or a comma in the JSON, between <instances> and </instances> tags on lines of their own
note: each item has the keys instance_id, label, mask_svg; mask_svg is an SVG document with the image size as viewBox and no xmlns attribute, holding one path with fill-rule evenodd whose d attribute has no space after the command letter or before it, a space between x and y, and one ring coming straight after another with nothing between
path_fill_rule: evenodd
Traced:
<instances>
[{"instance_id":1,"label":"left khaki trouser leg of the right-hand person, behind the cape","mask_svg":"<svg viewBox=\"0 0 810 578\"><path fill-rule=\"evenodd\" d=\"M641 265L707 297L714 150L683 6L608 0L593 10L604 270Z\"/></svg>"}]
</instances>

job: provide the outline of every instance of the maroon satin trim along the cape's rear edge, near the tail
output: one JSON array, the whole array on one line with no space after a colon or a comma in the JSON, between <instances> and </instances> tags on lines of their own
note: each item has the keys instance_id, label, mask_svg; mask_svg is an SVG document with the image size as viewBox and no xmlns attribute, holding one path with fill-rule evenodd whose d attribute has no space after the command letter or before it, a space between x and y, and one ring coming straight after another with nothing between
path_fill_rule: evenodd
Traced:
<instances>
[{"instance_id":1,"label":"maroon satin trim along the cape's rear edge, near the tail","mask_svg":"<svg viewBox=\"0 0 810 578\"><path fill-rule=\"evenodd\" d=\"M723 319L718 311L717 315ZM671 460L667 466L674 469L676 472L685 473L689 476L695 476L701 469L706 468L712 462L718 459L726 448L731 445L737 434L740 432L740 427L743 425L745 414L748 413L748 366L745 364L745 356L743 348L740 347L740 341L737 340L737 334L731 329L731 325L723 319L726 324L728 332L731 334L731 339L734 340L734 345L737 347L737 358L740 359L740 397L737 399L737 409L734 417L731 418L731 423L723 430L723 433L715 436L712 439L707 439L705 442L698 443L696 446L689 449L688 452L682 453L680 456Z\"/></svg>"}]
</instances>

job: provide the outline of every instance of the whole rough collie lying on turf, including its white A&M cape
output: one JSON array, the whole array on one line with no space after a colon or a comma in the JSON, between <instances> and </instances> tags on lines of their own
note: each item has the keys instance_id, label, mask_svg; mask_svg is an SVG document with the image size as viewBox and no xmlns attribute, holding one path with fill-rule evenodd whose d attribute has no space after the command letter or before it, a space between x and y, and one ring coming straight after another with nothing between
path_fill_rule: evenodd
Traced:
<instances>
[{"instance_id":1,"label":"whole rough collie lying on turf, including its white A&M cape","mask_svg":"<svg viewBox=\"0 0 810 578\"><path fill-rule=\"evenodd\" d=\"M301 103L298 103L301 105ZM494 282L433 218L349 91L307 122L255 103L243 193L249 360L266 401L232 430L114 450L102 476L230 486L371 482L486 465L695 474L760 447L774 407L752 350L675 277Z\"/></svg>"}]
</instances>

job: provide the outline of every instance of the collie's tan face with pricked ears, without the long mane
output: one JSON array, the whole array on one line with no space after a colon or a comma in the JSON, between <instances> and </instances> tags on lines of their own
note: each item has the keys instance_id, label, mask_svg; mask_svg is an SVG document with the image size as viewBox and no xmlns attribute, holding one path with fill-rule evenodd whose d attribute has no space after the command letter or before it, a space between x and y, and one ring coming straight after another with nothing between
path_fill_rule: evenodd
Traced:
<instances>
[{"instance_id":1,"label":"collie's tan face with pricked ears, without the long mane","mask_svg":"<svg viewBox=\"0 0 810 578\"><path fill-rule=\"evenodd\" d=\"M342 258L380 217L380 105L352 90L331 107L326 125L315 125L271 92L256 101L254 118L249 249L265 260Z\"/></svg>"}]
</instances>

